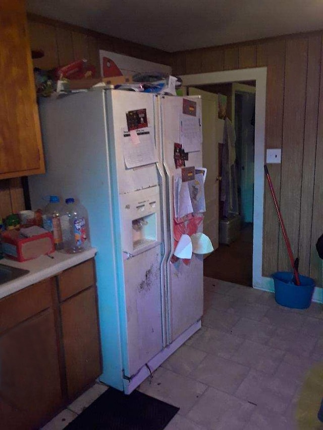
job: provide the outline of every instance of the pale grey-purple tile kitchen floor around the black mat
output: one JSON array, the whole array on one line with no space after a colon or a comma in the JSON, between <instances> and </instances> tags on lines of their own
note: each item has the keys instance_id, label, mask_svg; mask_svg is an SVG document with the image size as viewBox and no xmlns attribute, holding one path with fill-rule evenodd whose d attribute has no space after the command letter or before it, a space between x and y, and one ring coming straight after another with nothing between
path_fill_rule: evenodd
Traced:
<instances>
[{"instance_id":1,"label":"pale grey-purple tile kitchen floor around the black mat","mask_svg":"<svg viewBox=\"0 0 323 430\"><path fill-rule=\"evenodd\" d=\"M323 362L322 309L283 308L272 293L204 278L202 329L139 390L180 407L166 430L296 430L302 381ZM63 429L105 389L96 384L43 430Z\"/></svg>"}]
</instances>

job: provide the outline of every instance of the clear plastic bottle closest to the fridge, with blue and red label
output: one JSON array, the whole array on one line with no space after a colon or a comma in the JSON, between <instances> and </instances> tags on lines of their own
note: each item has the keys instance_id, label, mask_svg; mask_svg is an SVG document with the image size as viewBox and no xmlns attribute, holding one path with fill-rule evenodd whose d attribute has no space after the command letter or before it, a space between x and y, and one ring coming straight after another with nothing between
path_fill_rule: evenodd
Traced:
<instances>
[{"instance_id":1,"label":"clear plastic bottle closest to the fridge, with blue and red label","mask_svg":"<svg viewBox=\"0 0 323 430\"><path fill-rule=\"evenodd\" d=\"M65 214L62 217L64 250L79 253L89 246L87 211L72 197L65 200Z\"/></svg>"}]
</instances>

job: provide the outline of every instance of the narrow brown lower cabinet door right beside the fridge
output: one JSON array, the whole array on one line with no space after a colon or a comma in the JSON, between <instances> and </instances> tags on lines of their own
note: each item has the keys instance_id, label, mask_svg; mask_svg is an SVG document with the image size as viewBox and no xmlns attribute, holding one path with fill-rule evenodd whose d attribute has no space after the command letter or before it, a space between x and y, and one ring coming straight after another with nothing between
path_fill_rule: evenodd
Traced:
<instances>
[{"instance_id":1,"label":"narrow brown lower cabinet door right beside the fridge","mask_svg":"<svg viewBox=\"0 0 323 430\"><path fill-rule=\"evenodd\" d=\"M88 288L61 304L69 399L101 374L95 291Z\"/></svg>"}]
</instances>

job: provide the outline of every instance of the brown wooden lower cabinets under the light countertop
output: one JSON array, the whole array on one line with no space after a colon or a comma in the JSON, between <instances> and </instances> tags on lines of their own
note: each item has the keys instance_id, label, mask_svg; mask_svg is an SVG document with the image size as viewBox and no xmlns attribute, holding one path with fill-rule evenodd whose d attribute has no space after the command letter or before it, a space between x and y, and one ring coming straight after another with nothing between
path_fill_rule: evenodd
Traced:
<instances>
[{"instance_id":1,"label":"brown wooden lower cabinets under the light countertop","mask_svg":"<svg viewBox=\"0 0 323 430\"><path fill-rule=\"evenodd\" d=\"M39 428L100 373L93 260L0 300L0 428Z\"/></svg>"}]
</instances>

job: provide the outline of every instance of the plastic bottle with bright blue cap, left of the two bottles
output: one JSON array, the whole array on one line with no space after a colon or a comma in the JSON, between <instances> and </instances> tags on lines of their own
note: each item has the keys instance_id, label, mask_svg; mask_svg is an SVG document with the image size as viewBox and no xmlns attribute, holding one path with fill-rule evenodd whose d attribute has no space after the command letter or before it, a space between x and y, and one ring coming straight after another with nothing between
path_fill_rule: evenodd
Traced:
<instances>
[{"instance_id":1,"label":"plastic bottle with bright blue cap, left of the two bottles","mask_svg":"<svg viewBox=\"0 0 323 430\"><path fill-rule=\"evenodd\" d=\"M63 236L61 228L62 204L58 196L50 196L49 203L44 208L42 215L42 225L44 229L50 231L54 237L55 249L63 249Z\"/></svg>"}]
</instances>

